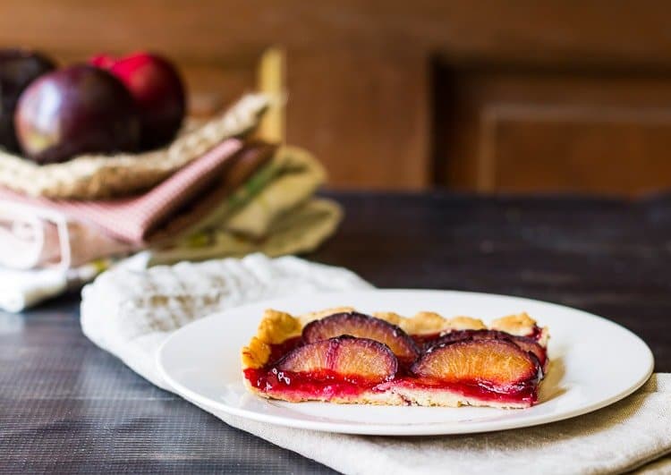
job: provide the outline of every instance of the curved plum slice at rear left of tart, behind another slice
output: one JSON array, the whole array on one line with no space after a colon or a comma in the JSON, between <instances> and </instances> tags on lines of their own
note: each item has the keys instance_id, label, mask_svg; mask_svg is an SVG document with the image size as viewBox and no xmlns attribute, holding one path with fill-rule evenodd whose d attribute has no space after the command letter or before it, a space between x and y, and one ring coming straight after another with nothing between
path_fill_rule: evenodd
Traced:
<instances>
[{"instance_id":1,"label":"curved plum slice at rear left of tart, behind another slice","mask_svg":"<svg viewBox=\"0 0 671 475\"><path fill-rule=\"evenodd\" d=\"M420 354L412 338L401 328L357 312L336 313L320 318L306 325L302 332L303 341L308 344L340 335L369 338L386 344L396 357L407 362L414 361Z\"/></svg>"}]
</instances>

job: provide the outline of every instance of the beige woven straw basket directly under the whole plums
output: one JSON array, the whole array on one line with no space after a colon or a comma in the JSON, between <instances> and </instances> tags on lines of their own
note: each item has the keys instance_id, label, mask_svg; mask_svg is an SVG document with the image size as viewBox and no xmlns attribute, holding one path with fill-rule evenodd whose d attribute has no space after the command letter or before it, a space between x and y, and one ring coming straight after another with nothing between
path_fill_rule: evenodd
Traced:
<instances>
[{"instance_id":1,"label":"beige woven straw basket directly under the whole plums","mask_svg":"<svg viewBox=\"0 0 671 475\"><path fill-rule=\"evenodd\" d=\"M0 149L0 186L52 199L104 199L146 190L213 148L259 124L271 98L248 94L223 115L198 127L186 124L166 148L140 154L82 155L37 165Z\"/></svg>"}]
</instances>

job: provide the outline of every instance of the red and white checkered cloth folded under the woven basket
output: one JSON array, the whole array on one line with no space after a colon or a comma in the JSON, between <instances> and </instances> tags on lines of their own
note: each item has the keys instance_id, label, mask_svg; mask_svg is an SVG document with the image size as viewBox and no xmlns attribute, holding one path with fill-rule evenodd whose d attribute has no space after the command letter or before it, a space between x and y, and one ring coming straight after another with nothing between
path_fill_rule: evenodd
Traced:
<instances>
[{"instance_id":1,"label":"red and white checkered cloth folded under the woven basket","mask_svg":"<svg viewBox=\"0 0 671 475\"><path fill-rule=\"evenodd\" d=\"M170 216L220 178L242 146L242 140L225 140L138 197L98 201L54 200L33 198L0 188L0 199L53 209L72 219L98 225L121 241L142 244L151 231L165 224Z\"/></svg>"}]
</instances>

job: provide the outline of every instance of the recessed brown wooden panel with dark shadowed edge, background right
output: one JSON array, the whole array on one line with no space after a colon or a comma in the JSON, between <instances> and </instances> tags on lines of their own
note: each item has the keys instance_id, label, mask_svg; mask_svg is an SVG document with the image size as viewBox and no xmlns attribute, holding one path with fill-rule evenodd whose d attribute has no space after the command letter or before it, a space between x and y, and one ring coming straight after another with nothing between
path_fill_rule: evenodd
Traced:
<instances>
[{"instance_id":1,"label":"recessed brown wooden panel with dark shadowed edge, background right","mask_svg":"<svg viewBox=\"0 0 671 475\"><path fill-rule=\"evenodd\" d=\"M671 76L437 70L437 179L450 186L628 194L671 186L671 174L663 167ZM611 175L603 172L607 155L623 164L610 167ZM548 169L539 174L531 165ZM572 180L576 166L583 176ZM514 178L504 180L504 169Z\"/></svg>"}]
</instances>

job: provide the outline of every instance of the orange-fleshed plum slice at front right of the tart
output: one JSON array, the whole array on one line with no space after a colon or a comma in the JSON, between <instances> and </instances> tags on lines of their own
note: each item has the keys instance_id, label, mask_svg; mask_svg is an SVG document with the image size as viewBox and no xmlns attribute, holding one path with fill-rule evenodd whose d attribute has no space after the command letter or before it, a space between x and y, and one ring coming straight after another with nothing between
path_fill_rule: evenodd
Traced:
<instances>
[{"instance_id":1,"label":"orange-fleshed plum slice at front right of the tart","mask_svg":"<svg viewBox=\"0 0 671 475\"><path fill-rule=\"evenodd\" d=\"M539 377L539 369L528 352L510 341L496 339L434 346L412 365L411 371L418 377L497 387L511 387Z\"/></svg>"}]
</instances>

